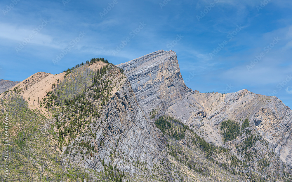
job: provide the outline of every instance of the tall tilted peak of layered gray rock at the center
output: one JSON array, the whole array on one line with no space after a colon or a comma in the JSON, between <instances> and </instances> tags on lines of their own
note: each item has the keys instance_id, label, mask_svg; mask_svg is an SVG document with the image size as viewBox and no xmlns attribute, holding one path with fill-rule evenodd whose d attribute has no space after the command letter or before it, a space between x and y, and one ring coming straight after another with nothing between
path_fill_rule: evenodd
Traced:
<instances>
[{"instance_id":1,"label":"tall tilted peak of layered gray rock at the center","mask_svg":"<svg viewBox=\"0 0 292 182\"><path fill-rule=\"evenodd\" d=\"M165 110L190 92L173 51L159 50L117 66L125 71L138 102L147 114L157 107Z\"/></svg>"}]
</instances>

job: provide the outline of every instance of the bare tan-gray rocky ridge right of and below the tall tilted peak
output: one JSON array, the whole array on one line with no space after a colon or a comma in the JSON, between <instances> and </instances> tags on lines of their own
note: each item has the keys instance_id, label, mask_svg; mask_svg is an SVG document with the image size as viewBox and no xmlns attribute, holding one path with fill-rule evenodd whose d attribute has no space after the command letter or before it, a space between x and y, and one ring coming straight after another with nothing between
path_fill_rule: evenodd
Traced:
<instances>
[{"instance_id":1,"label":"bare tan-gray rocky ridge right of and below the tall tilted peak","mask_svg":"<svg viewBox=\"0 0 292 182\"><path fill-rule=\"evenodd\" d=\"M235 145L224 144L218 125L225 119L235 119L242 124L248 118L250 129L261 135L282 161L292 166L292 112L276 97L247 90L228 94L190 92L168 107L165 114L186 121L200 131L201 137L207 137L207 141L230 149Z\"/></svg>"}]
</instances>

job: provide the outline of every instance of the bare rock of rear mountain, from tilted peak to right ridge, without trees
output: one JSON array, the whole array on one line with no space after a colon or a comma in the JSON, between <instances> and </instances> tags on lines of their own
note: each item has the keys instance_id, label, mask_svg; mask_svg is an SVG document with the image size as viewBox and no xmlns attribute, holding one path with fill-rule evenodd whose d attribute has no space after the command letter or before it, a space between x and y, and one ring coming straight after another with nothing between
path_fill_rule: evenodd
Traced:
<instances>
[{"instance_id":1,"label":"bare rock of rear mountain, from tilted peak to right ridge, without trees","mask_svg":"<svg viewBox=\"0 0 292 182\"><path fill-rule=\"evenodd\" d=\"M260 134L277 156L292 166L292 112L278 98L247 90L228 94L191 91L173 51L160 50L118 66L125 70L146 113L160 107L161 114L180 119L207 141L230 149L240 140L224 143L218 125L225 119L242 124L248 118L249 130Z\"/></svg>"}]
</instances>

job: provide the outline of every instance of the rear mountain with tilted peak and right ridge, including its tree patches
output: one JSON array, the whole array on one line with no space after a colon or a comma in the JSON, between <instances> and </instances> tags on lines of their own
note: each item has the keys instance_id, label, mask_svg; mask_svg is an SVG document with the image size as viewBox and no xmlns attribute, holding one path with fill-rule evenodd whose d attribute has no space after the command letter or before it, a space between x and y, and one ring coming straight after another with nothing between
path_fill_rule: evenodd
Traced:
<instances>
[{"instance_id":1,"label":"rear mountain with tilted peak and right ridge, including its tree patches","mask_svg":"<svg viewBox=\"0 0 292 182\"><path fill-rule=\"evenodd\" d=\"M152 118L160 114L179 119L206 141L230 149L264 178L272 171L291 172L292 112L278 98L247 90L228 94L191 91L181 78L173 51L160 50L118 66L125 70L138 102ZM274 162L263 169L259 159Z\"/></svg>"}]
</instances>

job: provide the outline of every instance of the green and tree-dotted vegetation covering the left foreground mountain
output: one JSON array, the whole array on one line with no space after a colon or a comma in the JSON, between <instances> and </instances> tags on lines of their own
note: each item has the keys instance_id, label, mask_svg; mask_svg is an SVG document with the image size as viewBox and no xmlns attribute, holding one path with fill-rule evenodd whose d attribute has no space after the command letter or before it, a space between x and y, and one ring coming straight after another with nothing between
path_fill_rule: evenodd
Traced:
<instances>
[{"instance_id":1,"label":"green and tree-dotted vegetation covering the left foreground mountain","mask_svg":"<svg viewBox=\"0 0 292 182\"><path fill-rule=\"evenodd\" d=\"M92 63L92 62L90 62ZM89 63L86 63L86 65ZM121 175L117 166L107 168L98 173L83 167L62 165L60 153L63 147L68 145L71 139L80 135L80 131L86 128L89 118L100 118L100 111L106 105L114 87L112 80L103 79L103 75L110 74L115 68L113 64L107 64L93 73L86 65L76 67L67 74L61 86L53 85L52 91L46 93L46 98L40 103L52 113L55 122L44 117L37 109L29 109L27 102L18 94L20 91L6 91L0 98L0 119L4 114L9 114L9 180L11 181L128 181L127 173ZM116 71L119 70L115 68ZM71 76L73 74L73 76ZM75 80L72 78L75 78ZM74 85L76 84L76 85ZM93 107L98 102L100 107ZM40 109L43 109L40 107ZM66 118L60 118L59 114ZM4 133L3 122L0 124L1 133ZM57 132L55 131L57 130ZM95 135L92 133L92 135ZM68 137L68 139L65 139ZM4 141L1 140L1 144ZM91 143L81 141L79 147L94 152ZM68 148L64 151L68 154ZM4 153L1 153L1 165L4 163ZM84 153L90 155L90 153ZM105 164L106 165L106 164ZM106 173L105 173L106 172ZM111 174L107 179L105 174ZM4 173L0 170L0 181L4 179Z\"/></svg>"}]
</instances>

